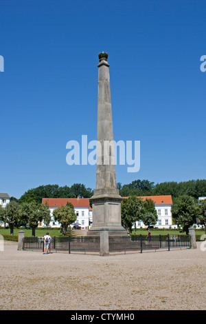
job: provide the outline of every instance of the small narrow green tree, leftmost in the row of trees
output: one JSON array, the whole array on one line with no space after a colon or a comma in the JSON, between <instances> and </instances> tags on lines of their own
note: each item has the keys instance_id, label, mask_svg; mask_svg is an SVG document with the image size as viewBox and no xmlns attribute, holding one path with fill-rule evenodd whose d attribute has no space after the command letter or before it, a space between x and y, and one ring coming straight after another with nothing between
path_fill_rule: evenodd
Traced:
<instances>
[{"instance_id":1,"label":"small narrow green tree, leftmost in the row of trees","mask_svg":"<svg viewBox=\"0 0 206 324\"><path fill-rule=\"evenodd\" d=\"M19 210L20 206L16 201L10 201L5 206L5 223L8 223L11 235L14 233L14 227L18 227L19 225Z\"/></svg>"}]
</instances>

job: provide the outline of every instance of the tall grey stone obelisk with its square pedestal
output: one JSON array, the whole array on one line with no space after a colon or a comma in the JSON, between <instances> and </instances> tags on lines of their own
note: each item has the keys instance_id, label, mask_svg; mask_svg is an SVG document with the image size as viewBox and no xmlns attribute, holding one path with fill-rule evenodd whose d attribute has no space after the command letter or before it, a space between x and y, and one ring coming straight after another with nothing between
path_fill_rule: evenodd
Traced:
<instances>
[{"instance_id":1,"label":"tall grey stone obelisk with its square pedestal","mask_svg":"<svg viewBox=\"0 0 206 324\"><path fill-rule=\"evenodd\" d=\"M98 145L96 189L91 197L93 225L87 235L127 235L121 223L121 201L116 185L113 119L108 54L100 53L98 64Z\"/></svg>"}]
</instances>

